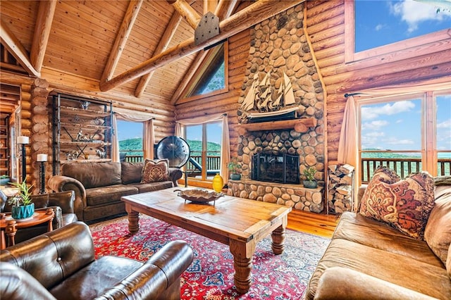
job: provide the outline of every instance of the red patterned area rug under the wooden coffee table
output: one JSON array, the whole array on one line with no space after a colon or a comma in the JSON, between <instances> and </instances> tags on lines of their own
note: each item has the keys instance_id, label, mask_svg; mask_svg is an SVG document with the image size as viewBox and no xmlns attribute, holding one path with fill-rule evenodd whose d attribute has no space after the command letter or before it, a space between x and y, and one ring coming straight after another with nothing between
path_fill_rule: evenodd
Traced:
<instances>
[{"instance_id":1,"label":"red patterned area rug under the wooden coffee table","mask_svg":"<svg viewBox=\"0 0 451 300\"><path fill-rule=\"evenodd\" d=\"M140 231L128 232L127 217L89 226L96 256L115 255L147 261L175 239L188 242L194 261L181 279L182 299L302 299L316 264L330 239L287 230L285 251L271 251L271 237L257 244L252 260L252 286L240 295L233 284L233 256L228 246L180 227L140 215Z\"/></svg>"}]
</instances>

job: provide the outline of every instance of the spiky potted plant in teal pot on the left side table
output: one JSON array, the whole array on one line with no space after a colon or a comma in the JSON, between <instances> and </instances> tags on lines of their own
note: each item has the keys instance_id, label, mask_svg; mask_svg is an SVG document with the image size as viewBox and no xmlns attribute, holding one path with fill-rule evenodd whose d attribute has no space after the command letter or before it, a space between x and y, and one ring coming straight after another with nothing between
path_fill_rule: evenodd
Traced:
<instances>
[{"instance_id":1,"label":"spiky potted plant in teal pot on the left side table","mask_svg":"<svg viewBox=\"0 0 451 300\"><path fill-rule=\"evenodd\" d=\"M16 196L13 196L8 204L11 205L11 216L14 219L30 218L35 213L35 204L31 199L31 190L33 186L28 187L27 182L11 182L13 187L19 189Z\"/></svg>"}]
</instances>

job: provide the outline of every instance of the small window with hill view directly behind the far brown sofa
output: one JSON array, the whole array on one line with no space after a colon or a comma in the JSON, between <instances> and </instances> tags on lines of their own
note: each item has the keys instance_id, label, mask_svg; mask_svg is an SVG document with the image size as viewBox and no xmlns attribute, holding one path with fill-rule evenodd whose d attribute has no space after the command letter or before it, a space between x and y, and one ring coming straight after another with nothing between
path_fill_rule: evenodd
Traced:
<instances>
[{"instance_id":1,"label":"small window with hill view directly behind the far brown sofa","mask_svg":"<svg viewBox=\"0 0 451 300\"><path fill-rule=\"evenodd\" d=\"M143 125L140 122L118 120L119 157L132 163L143 160L142 147Z\"/></svg>"}]
</instances>

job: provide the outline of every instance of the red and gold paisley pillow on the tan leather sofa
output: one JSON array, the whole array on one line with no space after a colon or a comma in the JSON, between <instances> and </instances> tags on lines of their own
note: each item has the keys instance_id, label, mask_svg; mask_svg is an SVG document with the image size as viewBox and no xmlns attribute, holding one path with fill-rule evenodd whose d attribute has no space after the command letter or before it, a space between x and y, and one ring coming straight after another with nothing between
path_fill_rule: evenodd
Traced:
<instances>
[{"instance_id":1,"label":"red and gold paisley pillow on the tan leather sofa","mask_svg":"<svg viewBox=\"0 0 451 300\"><path fill-rule=\"evenodd\" d=\"M378 168L362 197L360 213L397 228L414 239L424 239L424 228L434 204L433 177L426 172L404 180L388 168Z\"/></svg>"}]
</instances>

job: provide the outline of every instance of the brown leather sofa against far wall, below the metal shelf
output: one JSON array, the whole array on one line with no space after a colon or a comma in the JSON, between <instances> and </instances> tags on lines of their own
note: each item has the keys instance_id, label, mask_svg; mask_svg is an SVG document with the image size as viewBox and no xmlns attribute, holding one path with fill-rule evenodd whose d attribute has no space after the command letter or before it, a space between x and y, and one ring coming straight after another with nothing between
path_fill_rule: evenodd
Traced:
<instances>
[{"instance_id":1,"label":"brown leather sofa against far wall, below the metal shelf","mask_svg":"<svg viewBox=\"0 0 451 300\"><path fill-rule=\"evenodd\" d=\"M171 180L141 183L144 163L66 163L48 182L55 192L75 191L78 220L89 221L125 213L122 196L176 187L183 173L169 168Z\"/></svg>"}]
</instances>

